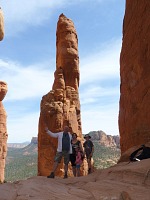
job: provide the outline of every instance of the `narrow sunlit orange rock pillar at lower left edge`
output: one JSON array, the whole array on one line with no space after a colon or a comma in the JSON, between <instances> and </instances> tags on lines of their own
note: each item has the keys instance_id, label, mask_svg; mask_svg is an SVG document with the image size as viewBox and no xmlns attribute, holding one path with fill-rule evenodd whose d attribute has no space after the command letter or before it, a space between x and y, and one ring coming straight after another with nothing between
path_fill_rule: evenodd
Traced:
<instances>
[{"instance_id":1,"label":"narrow sunlit orange rock pillar at lower left edge","mask_svg":"<svg viewBox=\"0 0 150 200\"><path fill-rule=\"evenodd\" d=\"M0 182L4 181L5 160L7 154L7 128L6 128L6 112L2 103L7 93L7 84L0 81Z\"/></svg>"}]
</instances>

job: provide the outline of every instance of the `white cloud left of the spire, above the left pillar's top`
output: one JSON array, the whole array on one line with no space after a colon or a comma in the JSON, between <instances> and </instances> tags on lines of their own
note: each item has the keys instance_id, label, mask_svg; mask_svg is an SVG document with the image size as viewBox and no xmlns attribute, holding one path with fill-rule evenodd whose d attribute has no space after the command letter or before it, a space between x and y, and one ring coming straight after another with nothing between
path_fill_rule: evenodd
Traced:
<instances>
[{"instance_id":1,"label":"white cloud left of the spire, above the left pillar's top","mask_svg":"<svg viewBox=\"0 0 150 200\"><path fill-rule=\"evenodd\" d=\"M44 66L44 67L43 67ZM0 60L0 80L8 84L6 101L41 97L52 88L53 73L48 63L22 66Z\"/></svg>"}]
</instances>

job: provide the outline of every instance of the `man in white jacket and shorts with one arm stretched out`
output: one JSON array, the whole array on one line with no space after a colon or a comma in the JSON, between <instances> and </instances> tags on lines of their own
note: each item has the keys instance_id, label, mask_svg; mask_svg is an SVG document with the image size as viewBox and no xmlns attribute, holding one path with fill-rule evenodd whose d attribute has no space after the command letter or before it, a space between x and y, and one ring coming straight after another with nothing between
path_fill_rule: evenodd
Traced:
<instances>
[{"instance_id":1,"label":"man in white jacket and shorts with one arm stretched out","mask_svg":"<svg viewBox=\"0 0 150 200\"><path fill-rule=\"evenodd\" d=\"M58 167L58 164L61 162L62 157L64 157L64 178L68 178L68 163L69 163L69 157L72 153L72 145L71 145L71 139L72 135L69 132L69 127L65 126L64 131L53 133L50 130L48 130L47 127L45 127L45 131L48 135L54 138L58 138L58 147L57 152L54 158L54 165L53 170L47 178L55 178L55 171Z\"/></svg>"}]
</instances>

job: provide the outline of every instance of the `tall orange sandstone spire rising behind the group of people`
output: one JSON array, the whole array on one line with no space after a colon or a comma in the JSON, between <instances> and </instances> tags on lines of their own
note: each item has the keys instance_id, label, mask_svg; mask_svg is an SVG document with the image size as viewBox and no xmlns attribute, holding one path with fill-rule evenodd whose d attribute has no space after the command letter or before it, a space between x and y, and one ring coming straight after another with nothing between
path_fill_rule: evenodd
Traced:
<instances>
[{"instance_id":1,"label":"tall orange sandstone spire rising behind the group of people","mask_svg":"<svg viewBox=\"0 0 150 200\"><path fill-rule=\"evenodd\" d=\"M73 22L60 15L57 24L56 71L52 90L43 96L38 133L38 174L48 175L52 170L57 149L57 139L48 136L44 122L52 132L70 127L82 140L80 101L79 101L79 57L78 39ZM56 175L62 175L60 164Z\"/></svg>"}]
</instances>

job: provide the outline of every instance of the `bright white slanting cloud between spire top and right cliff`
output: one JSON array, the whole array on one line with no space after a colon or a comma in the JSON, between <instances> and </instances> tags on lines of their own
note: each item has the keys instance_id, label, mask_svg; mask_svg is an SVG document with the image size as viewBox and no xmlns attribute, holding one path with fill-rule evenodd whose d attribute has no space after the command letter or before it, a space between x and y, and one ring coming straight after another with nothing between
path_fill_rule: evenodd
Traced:
<instances>
[{"instance_id":1,"label":"bright white slanting cloud between spire top and right cliff","mask_svg":"<svg viewBox=\"0 0 150 200\"><path fill-rule=\"evenodd\" d=\"M119 77L121 39L109 41L97 52L80 59L81 85Z\"/></svg>"}]
</instances>

